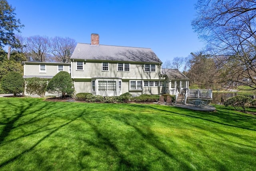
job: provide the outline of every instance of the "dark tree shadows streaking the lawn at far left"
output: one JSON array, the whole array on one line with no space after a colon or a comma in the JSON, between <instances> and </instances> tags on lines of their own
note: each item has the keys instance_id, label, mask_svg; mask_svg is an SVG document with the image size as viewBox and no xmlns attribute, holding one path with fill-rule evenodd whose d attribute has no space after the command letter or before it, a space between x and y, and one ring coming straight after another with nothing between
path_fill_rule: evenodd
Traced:
<instances>
[{"instance_id":1,"label":"dark tree shadows streaking the lawn at far left","mask_svg":"<svg viewBox=\"0 0 256 171\"><path fill-rule=\"evenodd\" d=\"M31 101L29 99L27 99L27 100L26 99L22 99L22 103L20 103L20 104L15 104L15 103L11 103L11 102L8 103L8 105L12 105L13 109L16 110L15 113L17 113L17 114L15 114L15 117L13 117L11 119L10 118L8 119L6 117L7 122L2 123L5 126L3 128L3 131L0 133L0 146L3 145L3 144L10 143L11 141L18 140L18 139L20 139L22 137L28 137L30 135L36 135L38 133L43 133L45 131L50 131L50 132L48 132L46 135L44 135L42 138L40 138L36 143L34 143L29 148L22 149L21 153L11 157L10 159L2 161L0 163L0 168L4 167L8 163L11 163L11 162L15 161L19 157L22 157L22 155L24 155L25 153L28 153L28 152L32 151L32 149L34 149L34 147L36 147L44 139L46 139L47 137L49 137L50 135L52 135L53 133L55 133L56 131L58 131L62 127L65 127L66 125L68 125L71 122L75 121L76 119L82 117L83 115L90 113L90 110L88 110L89 112L87 111L86 113L84 113L84 112L81 112L80 114L76 113L76 116L73 117L72 119L65 118L65 119L68 120L68 122L64 122L64 123L60 124L59 126L50 127L50 128L48 126L50 126L52 123L50 123L51 120L49 120L48 123L46 123L44 125L40 125L37 129L33 129L30 133L26 133L25 135L21 135L21 136L19 136L17 138L5 141L6 137L8 137L8 135L10 134L10 132L13 129L16 129L17 127L22 126L22 125L26 125L27 122L24 122L24 123L22 123L20 125L18 124L18 125L14 126L14 123L16 123L19 119L21 119L21 117L33 114L33 113L37 112L38 110L42 110L35 117L32 117L30 120L28 120L27 124L32 124L32 123L34 123L36 121L40 121L41 119L45 119L47 117L51 117L52 115L58 114L58 113L60 113L60 111L63 111L63 112L65 111L65 108L63 108L62 106L60 106L59 108L56 108L56 105L54 103L45 103L44 102L44 103L42 103L43 105L40 105L40 107L36 108L36 110L34 110L34 111L30 110L30 112L28 112L28 109L30 109L30 107L35 105L34 102L35 101ZM54 112L52 112L51 114L44 113L45 111L48 111L49 109L56 111L56 113L54 113ZM6 114L7 113L3 113L3 115L6 115ZM42 115L44 115L44 114L46 116L42 117ZM40 117L40 118L35 119L36 117ZM54 117L52 117L52 120L54 120Z\"/></svg>"}]
</instances>

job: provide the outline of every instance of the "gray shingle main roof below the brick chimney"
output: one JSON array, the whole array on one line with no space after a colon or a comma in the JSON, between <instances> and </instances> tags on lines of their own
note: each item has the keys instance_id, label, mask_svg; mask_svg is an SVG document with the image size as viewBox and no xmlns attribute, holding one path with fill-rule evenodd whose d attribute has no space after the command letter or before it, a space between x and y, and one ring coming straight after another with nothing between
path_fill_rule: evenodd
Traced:
<instances>
[{"instance_id":1,"label":"gray shingle main roof below the brick chimney","mask_svg":"<svg viewBox=\"0 0 256 171\"><path fill-rule=\"evenodd\" d=\"M162 63L150 48L82 43L76 45L71 59Z\"/></svg>"}]
</instances>

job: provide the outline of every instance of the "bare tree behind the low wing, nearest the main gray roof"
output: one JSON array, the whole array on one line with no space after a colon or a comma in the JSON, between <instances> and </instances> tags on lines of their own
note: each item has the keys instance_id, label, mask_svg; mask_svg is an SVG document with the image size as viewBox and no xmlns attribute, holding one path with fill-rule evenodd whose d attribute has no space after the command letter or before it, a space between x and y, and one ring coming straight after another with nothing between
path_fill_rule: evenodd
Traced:
<instances>
[{"instance_id":1,"label":"bare tree behind the low wing, nearest the main gray roof","mask_svg":"<svg viewBox=\"0 0 256 171\"><path fill-rule=\"evenodd\" d=\"M76 47L76 40L72 38L62 38L56 36L51 39L51 52L54 55L56 61L68 63L70 57Z\"/></svg>"}]
</instances>

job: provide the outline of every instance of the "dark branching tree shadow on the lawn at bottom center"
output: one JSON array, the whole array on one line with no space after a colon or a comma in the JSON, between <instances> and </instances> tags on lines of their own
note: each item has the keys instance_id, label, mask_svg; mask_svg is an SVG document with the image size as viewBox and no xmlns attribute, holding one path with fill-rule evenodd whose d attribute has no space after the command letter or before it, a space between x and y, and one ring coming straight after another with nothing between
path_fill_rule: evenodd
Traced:
<instances>
[{"instance_id":1,"label":"dark branching tree shadow on the lawn at bottom center","mask_svg":"<svg viewBox=\"0 0 256 171\"><path fill-rule=\"evenodd\" d=\"M119 119L118 119L119 118ZM136 126L132 123L129 122L129 118L130 115L126 115L126 116L122 116L120 115L119 117L115 117L113 119L120 121L121 123L132 127L136 133L138 133L138 135L140 135L140 137L142 137L142 139L140 139L140 141L138 142L133 142L134 139L132 137L126 137L126 135L124 134L123 137L118 137L118 138L124 138L124 141L132 141L132 143L129 143L129 145L132 145L133 143L136 143L136 147L130 147L133 150L136 151L131 151L128 150L127 148L129 148L128 144L126 144L124 142L124 144L126 147L126 155L124 153L124 151L122 151L122 148L118 148L118 144L115 141L115 138L108 133L107 130L102 130L100 128L100 125L95 125L93 122L90 121L90 119L86 119L84 118L85 122L90 125L90 127L94 130L94 133L96 133L97 138L99 139L99 141L93 141L93 140L86 140L86 142L89 145L92 145L96 148L102 149L102 150L106 150L108 148L110 148L112 151L114 151L114 154L111 153L111 155L113 157L117 157L119 160L118 166L115 170L150 170L152 169L151 165L154 165L154 162L159 162L163 165L162 167L165 169L174 169L174 167L172 165L170 165L170 161L165 161L163 160L163 157L161 155L159 155L158 157L155 157L155 159L152 159L152 157L146 157L146 161L143 161L143 157L145 157L145 155L150 156L149 153L145 154L145 147L144 147L144 143L150 145L151 147L154 147L155 149L157 149L158 151L160 151L162 154L164 154L166 157L171 158L173 160L176 160L179 165L181 165L180 167L184 170L191 170L192 168L186 163L184 162L182 159L178 159L177 156L175 156L174 154L171 153L170 151L170 147L167 147L164 143L162 143L161 141L159 141L158 137L156 137L154 135L154 132L152 132L150 129L145 129L145 128L141 128L140 126ZM113 131L114 132L114 131ZM129 136L129 135L127 135ZM134 136L134 135L132 135ZM130 138L130 139L127 139ZM172 142L174 143L174 142ZM120 144L119 144L120 145ZM132 155L134 156L134 153L138 153L140 155L136 155L136 158L131 157L129 154L129 152L127 153L127 151L129 151L130 153L133 153ZM90 154L90 152L86 151L85 155ZM82 157L84 157L85 155L82 155ZM154 158L154 157L153 157ZM82 162L80 162L82 163ZM84 164L80 164L81 167L85 168ZM90 166L86 165L86 169L90 169Z\"/></svg>"}]
</instances>

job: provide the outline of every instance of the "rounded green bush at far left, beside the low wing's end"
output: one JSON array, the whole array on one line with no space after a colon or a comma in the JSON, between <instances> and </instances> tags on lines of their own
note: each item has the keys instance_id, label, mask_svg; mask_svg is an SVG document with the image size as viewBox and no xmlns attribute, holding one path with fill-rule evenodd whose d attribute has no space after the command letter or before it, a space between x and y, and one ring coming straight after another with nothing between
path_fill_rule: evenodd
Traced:
<instances>
[{"instance_id":1,"label":"rounded green bush at far left, beside the low wing's end","mask_svg":"<svg viewBox=\"0 0 256 171\"><path fill-rule=\"evenodd\" d=\"M4 91L16 95L24 92L24 83L22 75L19 72L12 71L2 78L1 87Z\"/></svg>"}]
</instances>

